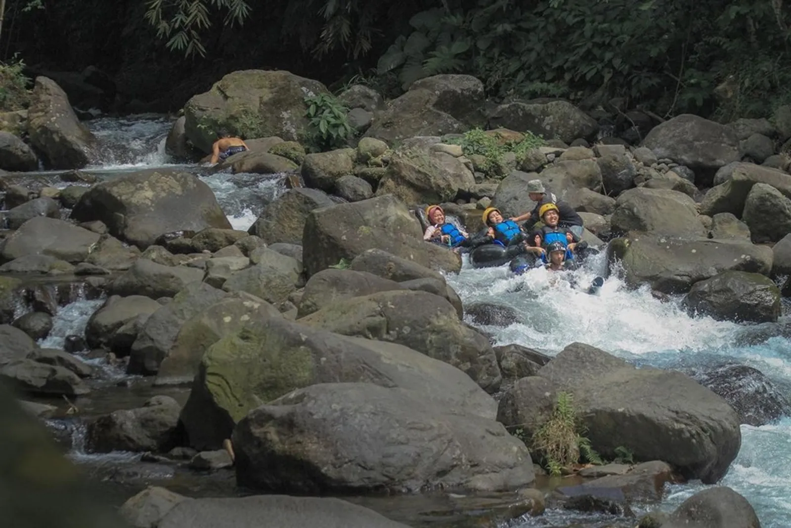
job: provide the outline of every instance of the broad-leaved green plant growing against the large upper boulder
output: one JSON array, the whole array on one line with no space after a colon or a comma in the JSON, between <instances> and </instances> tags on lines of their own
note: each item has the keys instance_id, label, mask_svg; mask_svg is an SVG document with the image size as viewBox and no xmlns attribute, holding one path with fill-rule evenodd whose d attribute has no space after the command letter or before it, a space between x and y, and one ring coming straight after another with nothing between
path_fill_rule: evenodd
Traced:
<instances>
[{"instance_id":1,"label":"broad-leaved green plant growing against the large upper boulder","mask_svg":"<svg viewBox=\"0 0 791 528\"><path fill-rule=\"evenodd\" d=\"M305 97L308 110L308 137L306 142L313 152L338 149L354 136L354 129L347 119L348 110L329 93Z\"/></svg>"}]
</instances>

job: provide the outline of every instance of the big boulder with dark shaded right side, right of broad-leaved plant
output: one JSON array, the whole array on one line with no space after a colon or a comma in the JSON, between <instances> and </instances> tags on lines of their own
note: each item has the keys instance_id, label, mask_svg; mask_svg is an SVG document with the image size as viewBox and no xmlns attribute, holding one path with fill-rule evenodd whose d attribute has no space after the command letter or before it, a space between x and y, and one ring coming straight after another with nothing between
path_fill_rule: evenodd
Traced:
<instances>
[{"instance_id":1,"label":"big boulder with dark shaded right side, right of broad-leaved plant","mask_svg":"<svg viewBox=\"0 0 791 528\"><path fill-rule=\"evenodd\" d=\"M486 124L483 106L483 83L475 77L426 77L376 111L365 136L391 144L416 136L463 133Z\"/></svg>"}]
</instances>

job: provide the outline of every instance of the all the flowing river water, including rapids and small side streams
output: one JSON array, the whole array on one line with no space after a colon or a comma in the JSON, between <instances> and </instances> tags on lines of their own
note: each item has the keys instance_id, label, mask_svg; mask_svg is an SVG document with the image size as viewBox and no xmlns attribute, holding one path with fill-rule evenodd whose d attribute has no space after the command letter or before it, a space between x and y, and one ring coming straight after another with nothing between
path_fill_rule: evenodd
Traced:
<instances>
[{"instance_id":1,"label":"all the flowing river water, including rapids and small side streams","mask_svg":"<svg viewBox=\"0 0 791 528\"><path fill-rule=\"evenodd\" d=\"M234 228L246 230L263 206L285 190L282 178L277 175L206 175L197 165L172 164L165 154L165 138L171 121L163 116L102 118L87 124L102 145L102 163L87 168L86 172L112 177L139 168L182 167L198 174L214 190ZM41 176L46 179L46 173ZM59 187L65 186L59 183ZM595 271L598 270L574 273L587 279L593 277ZM692 318L679 307L679 300L663 303L655 299L649 289L626 289L617 273L607 279L599 296L586 295L564 282L550 284L551 280L543 270L513 277L505 268L474 270L466 263L459 275L448 277L449 284L459 292L464 304L486 301L505 304L518 311L520 321L515 324L505 328L485 327L498 339L498 344L519 343L554 355L566 345L581 341L636 364L660 368L736 360L759 369L789 394L791 342L787 338L770 338L758 345L738 345L745 342L740 336L750 331L745 326L707 317ZM62 348L66 336L84 332L89 316L102 302L102 299L78 293L73 302L59 310L51 335L41 345ZM82 412L131 408L153 394L146 380L131 379L104 359L89 361L101 369L100 380L94 383L103 385L104 392L95 400L89 399L85 404L87 409L81 409ZM163 394L163 391L156 390L156 394ZM187 396L184 389L172 389L168 394L181 402ZM105 402L107 398L112 402ZM174 491L192 496L238 493L233 489L233 477L229 473L196 480L170 466L143 464L139 454L85 454L82 449L85 427L81 421L66 418L51 420L48 424L56 436L70 443L70 456L101 480L123 483L125 477L131 480L142 477L146 484L165 483ZM787 519L791 519L791 418L761 427L742 425L740 453L721 484L747 497L763 528L785 528ZM672 510L701 488L696 482L671 486L662 508ZM123 500L121 496L130 495L126 488L119 490L120 500ZM414 507L414 503L406 504L403 507ZM547 511L543 517L526 519L516 525L512 522L509 526L556 526L556 523L578 520L570 519L569 515Z\"/></svg>"}]
</instances>

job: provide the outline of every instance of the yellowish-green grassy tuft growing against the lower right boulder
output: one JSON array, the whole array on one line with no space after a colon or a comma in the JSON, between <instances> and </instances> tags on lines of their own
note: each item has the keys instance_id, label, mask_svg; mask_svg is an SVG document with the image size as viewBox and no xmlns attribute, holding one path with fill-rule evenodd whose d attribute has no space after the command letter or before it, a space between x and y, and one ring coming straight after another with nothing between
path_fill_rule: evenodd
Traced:
<instances>
[{"instance_id":1,"label":"yellowish-green grassy tuft growing against the lower right boulder","mask_svg":"<svg viewBox=\"0 0 791 528\"><path fill-rule=\"evenodd\" d=\"M580 459L601 464L599 454L584 435L585 427L577 417L572 395L560 392L549 420L532 436L532 451L553 476L561 475Z\"/></svg>"}]
</instances>

